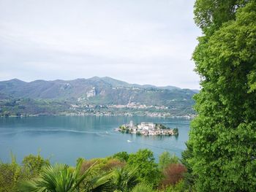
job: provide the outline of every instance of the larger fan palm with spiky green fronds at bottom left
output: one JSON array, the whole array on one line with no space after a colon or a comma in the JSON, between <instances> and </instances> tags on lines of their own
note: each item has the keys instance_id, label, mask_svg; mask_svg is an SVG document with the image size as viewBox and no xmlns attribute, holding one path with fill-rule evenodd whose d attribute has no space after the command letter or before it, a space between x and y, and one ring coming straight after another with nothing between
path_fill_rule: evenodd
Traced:
<instances>
[{"instance_id":1,"label":"larger fan palm with spiky green fronds at bottom left","mask_svg":"<svg viewBox=\"0 0 256 192\"><path fill-rule=\"evenodd\" d=\"M96 164L95 162L94 164ZM20 183L20 191L31 192L75 192L75 191L110 191L110 174L102 177L91 176L91 165L86 172L81 173L82 161L74 170L69 169L65 164L56 164L42 169L41 174L34 180ZM86 188L81 188L81 183L85 181Z\"/></svg>"}]
</instances>

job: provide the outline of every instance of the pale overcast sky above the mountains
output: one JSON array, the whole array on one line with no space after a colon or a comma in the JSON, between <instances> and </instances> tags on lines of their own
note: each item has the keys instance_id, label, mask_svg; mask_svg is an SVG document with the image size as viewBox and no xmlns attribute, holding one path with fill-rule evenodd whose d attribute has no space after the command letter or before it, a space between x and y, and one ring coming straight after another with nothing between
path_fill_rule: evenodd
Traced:
<instances>
[{"instance_id":1,"label":"pale overcast sky above the mountains","mask_svg":"<svg viewBox=\"0 0 256 192\"><path fill-rule=\"evenodd\" d=\"M0 0L0 80L200 88L191 0Z\"/></svg>"}]
</instances>

